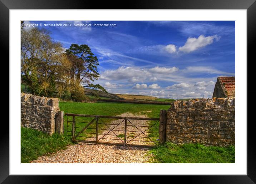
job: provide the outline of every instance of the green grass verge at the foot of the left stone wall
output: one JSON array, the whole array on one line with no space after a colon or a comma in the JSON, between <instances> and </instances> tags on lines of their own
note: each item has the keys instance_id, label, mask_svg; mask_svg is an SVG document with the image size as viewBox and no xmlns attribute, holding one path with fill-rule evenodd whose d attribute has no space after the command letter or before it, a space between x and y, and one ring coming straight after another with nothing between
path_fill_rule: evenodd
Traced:
<instances>
[{"instance_id":1,"label":"green grass verge at the foot of the left stone wall","mask_svg":"<svg viewBox=\"0 0 256 184\"><path fill-rule=\"evenodd\" d=\"M21 127L21 163L29 163L44 154L65 149L72 144L70 137L49 135L30 128Z\"/></svg>"}]
</instances>

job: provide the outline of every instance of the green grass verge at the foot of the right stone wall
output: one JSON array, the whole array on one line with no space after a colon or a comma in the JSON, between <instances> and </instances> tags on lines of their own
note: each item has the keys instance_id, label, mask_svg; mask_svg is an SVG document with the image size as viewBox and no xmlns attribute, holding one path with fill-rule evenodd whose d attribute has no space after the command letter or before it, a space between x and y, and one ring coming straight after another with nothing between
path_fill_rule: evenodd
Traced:
<instances>
[{"instance_id":1,"label":"green grass verge at the foot of the right stone wall","mask_svg":"<svg viewBox=\"0 0 256 184\"><path fill-rule=\"evenodd\" d=\"M165 143L149 151L152 163L235 163L235 146Z\"/></svg>"}]
</instances>

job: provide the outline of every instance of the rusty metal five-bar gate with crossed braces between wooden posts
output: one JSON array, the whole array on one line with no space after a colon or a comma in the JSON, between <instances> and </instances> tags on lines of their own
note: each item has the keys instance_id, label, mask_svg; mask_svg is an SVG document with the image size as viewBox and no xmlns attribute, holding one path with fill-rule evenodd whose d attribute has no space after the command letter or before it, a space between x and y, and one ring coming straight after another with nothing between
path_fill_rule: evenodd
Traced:
<instances>
[{"instance_id":1,"label":"rusty metal five-bar gate with crossed braces between wooden posts","mask_svg":"<svg viewBox=\"0 0 256 184\"><path fill-rule=\"evenodd\" d=\"M154 146L159 140L159 118L70 114L66 133L74 142Z\"/></svg>"}]
</instances>

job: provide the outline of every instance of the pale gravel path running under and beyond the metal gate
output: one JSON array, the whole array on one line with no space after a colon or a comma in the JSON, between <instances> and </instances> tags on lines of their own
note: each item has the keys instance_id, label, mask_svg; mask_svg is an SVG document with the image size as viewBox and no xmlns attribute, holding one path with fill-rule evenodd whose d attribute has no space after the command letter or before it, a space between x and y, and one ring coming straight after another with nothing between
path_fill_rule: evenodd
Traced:
<instances>
[{"instance_id":1,"label":"pale gravel path running under and beyond the metal gate","mask_svg":"<svg viewBox=\"0 0 256 184\"><path fill-rule=\"evenodd\" d=\"M138 115L133 115L131 113L124 113L119 116L138 117ZM139 117L146 117L146 116L139 115ZM139 123L140 125L148 126L147 121L140 121L140 122L138 121L140 120L132 120L132 123L133 124ZM120 119L113 120L111 123L118 124L119 122L120 122ZM110 126L113 126L113 125L110 125ZM122 125L117 126L115 130L119 130L119 128L122 129ZM144 127L142 127L141 129L140 127L141 131L143 131L143 128ZM132 131L135 129L137 128L133 126L129 126L129 130ZM113 132L115 133L119 131L113 131ZM138 138L138 139L144 139L144 138ZM107 139L101 139L101 140L107 140ZM121 141L111 140L111 142L120 143ZM148 150L149 148L140 148L140 147L131 147L131 146L123 147L123 146L117 146L117 145L78 143L74 145L69 145L65 150L60 150L50 155L41 156L37 160L32 161L31 163L149 163L149 159L152 159L152 155L148 154Z\"/></svg>"}]
</instances>

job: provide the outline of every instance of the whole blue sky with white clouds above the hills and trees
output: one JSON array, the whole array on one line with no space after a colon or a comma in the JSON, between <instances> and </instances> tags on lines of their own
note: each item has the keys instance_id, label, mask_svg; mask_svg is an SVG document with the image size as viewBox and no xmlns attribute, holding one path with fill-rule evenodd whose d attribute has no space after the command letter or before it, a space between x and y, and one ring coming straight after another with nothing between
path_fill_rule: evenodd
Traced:
<instances>
[{"instance_id":1,"label":"whole blue sky with white clouds above the hills and trees","mask_svg":"<svg viewBox=\"0 0 256 184\"><path fill-rule=\"evenodd\" d=\"M87 44L110 93L211 97L218 76L235 76L235 21L25 21L69 48ZM74 26L116 24L116 26Z\"/></svg>"}]
</instances>

